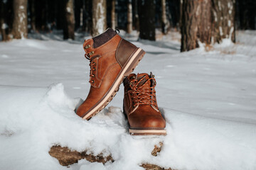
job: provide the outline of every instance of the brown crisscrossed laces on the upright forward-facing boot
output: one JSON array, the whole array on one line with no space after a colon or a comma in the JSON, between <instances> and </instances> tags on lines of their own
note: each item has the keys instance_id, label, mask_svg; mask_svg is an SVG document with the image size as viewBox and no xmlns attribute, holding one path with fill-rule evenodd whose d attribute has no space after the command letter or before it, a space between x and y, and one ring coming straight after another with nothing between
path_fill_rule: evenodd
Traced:
<instances>
[{"instance_id":1,"label":"brown crisscrossed laces on the upright forward-facing boot","mask_svg":"<svg viewBox=\"0 0 256 170\"><path fill-rule=\"evenodd\" d=\"M145 87L145 86L139 86L139 83L142 82L142 77L139 81L137 79L132 79L130 81L130 88L132 89L132 92L130 93L132 96L132 101L134 103L134 107L139 106L139 105L153 105L157 108L156 105L156 91L154 87L156 86L156 83L154 83L154 86L151 87ZM149 78L146 81L151 81L151 79L154 78ZM154 79L154 82L156 80ZM145 84L146 82L144 82Z\"/></svg>"}]
</instances>

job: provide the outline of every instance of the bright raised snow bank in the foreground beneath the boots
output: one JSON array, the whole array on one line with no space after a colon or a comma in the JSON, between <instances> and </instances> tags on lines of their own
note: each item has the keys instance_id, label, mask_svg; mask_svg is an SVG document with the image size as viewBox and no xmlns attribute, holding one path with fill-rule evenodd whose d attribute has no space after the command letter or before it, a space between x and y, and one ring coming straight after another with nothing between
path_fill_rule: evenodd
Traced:
<instances>
[{"instance_id":1,"label":"bright raised snow bank in the foreground beneath the boots","mask_svg":"<svg viewBox=\"0 0 256 170\"><path fill-rule=\"evenodd\" d=\"M142 163L173 169L256 168L255 124L161 108L168 135L131 136L120 108L110 106L90 121L75 115L81 99L68 97L62 84L0 86L0 93L0 169L142 169ZM153 157L159 142L164 147ZM112 154L115 162L103 166L81 160L67 168L48 154L53 145Z\"/></svg>"}]
</instances>

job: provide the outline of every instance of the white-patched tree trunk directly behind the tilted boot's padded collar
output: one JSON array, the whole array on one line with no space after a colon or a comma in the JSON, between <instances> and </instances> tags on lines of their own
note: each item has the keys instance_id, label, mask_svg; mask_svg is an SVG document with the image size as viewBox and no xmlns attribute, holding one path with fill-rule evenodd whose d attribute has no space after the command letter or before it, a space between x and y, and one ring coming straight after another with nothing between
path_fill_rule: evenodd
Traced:
<instances>
[{"instance_id":1,"label":"white-patched tree trunk directly behind the tilted boot's padded collar","mask_svg":"<svg viewBox=\"0 0 256 170\"><path fill-rule=\"evenodd\" d=\"M103 33L107 28L106 0L92 1L92 36Z\"/></svg>"}]
</instances>

